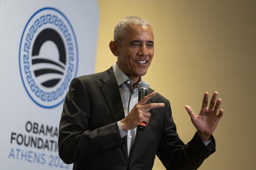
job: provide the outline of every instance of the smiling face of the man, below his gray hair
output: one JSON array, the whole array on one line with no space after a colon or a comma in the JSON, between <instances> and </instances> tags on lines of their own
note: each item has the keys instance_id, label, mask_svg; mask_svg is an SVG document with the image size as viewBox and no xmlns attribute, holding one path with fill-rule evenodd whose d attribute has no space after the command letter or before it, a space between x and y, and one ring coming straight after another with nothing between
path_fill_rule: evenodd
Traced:
<instances>
[{"instance_id":1,"label":"smiling face of the man, below his gray hair","mask_svg":"<svg viewBox=\"0 0 256 170\"><path fill-rule=\"evenodd\" d=\"M117 65L131 80L145 75L154 56L152 28L132 25L117 50Z\"/></svg>"}]
</instances>

